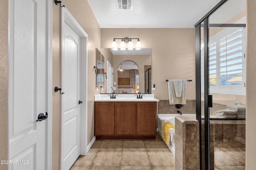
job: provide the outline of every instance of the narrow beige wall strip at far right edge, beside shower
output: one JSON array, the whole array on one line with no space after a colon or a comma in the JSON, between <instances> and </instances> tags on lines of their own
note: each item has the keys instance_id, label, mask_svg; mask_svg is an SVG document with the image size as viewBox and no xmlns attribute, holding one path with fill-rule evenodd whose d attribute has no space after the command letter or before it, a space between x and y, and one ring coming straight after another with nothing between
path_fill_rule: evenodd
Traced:
<instances>
[{"instance_id":1,"label":"narrow beige wall strip at far right edge, beside shower","mask_svg":"<svg viewBox=\"0 0 256 170\"><path fill-rule=\"evenodd\" d=\"M247 0L246 170L256 167L256 1Z\"/></svg>"}]
</instances>

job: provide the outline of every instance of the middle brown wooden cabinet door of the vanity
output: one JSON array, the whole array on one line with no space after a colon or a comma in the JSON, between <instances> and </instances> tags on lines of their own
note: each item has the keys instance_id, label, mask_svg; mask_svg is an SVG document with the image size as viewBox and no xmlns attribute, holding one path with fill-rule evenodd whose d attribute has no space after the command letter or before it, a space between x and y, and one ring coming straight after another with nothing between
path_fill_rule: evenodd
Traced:
<instances>
[{"instance_id":1,"label":"middle brown wooden cabinet door of the vanity","mask_svg":"<svg viewBox=\"0 0 256 170\"><path fill-rule=\"evenodd\" d=\"M116 135L135 135L135 102L116 103Z\"/></svg>"}]
</instances>

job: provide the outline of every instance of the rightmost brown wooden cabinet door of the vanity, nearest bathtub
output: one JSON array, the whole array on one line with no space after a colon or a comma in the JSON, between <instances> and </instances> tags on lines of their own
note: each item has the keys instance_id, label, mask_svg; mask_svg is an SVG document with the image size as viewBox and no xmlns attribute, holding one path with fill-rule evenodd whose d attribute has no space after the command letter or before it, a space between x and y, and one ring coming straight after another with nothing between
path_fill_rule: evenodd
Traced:
<instances>
[{"instance_id":1,"label":"rightmost brown wooden cabinet door of the vanity, nearest bathtub","mask_svg":"<svg viewBox=\"0 0 256 170\"><path fill-rule=\"evenodd\" d=\"M137 135L156 135L156 102L137 103Z\"/></svg>"}]
</instances>

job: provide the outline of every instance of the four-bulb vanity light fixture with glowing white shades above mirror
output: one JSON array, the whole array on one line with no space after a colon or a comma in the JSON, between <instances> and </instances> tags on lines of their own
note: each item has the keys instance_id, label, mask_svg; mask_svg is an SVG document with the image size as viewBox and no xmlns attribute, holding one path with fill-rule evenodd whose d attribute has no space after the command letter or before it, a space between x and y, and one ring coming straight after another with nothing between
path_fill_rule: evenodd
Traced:
<instances>
[{"instance_id":1,"label":"four-bulb vanity light fixture with glowing white shades above mirror","mask_svg":"<svg viewBox=\"0 0 256 170\"><path fill-rule=\"evenodd\" d=\"M133 50L134 46L132 43L132 39L137 39L137 43L136 43L136 50L140 50L141 49L141 43L140 43L140 39L139 38L114 38L113 42L112 42L112 50L118 50L117 45L116 45L116 39L121 39L121 43L120 43L120 50L126 50L126 45L125 43L128 43L128 50Z\"/></svg>"}]
</instances>

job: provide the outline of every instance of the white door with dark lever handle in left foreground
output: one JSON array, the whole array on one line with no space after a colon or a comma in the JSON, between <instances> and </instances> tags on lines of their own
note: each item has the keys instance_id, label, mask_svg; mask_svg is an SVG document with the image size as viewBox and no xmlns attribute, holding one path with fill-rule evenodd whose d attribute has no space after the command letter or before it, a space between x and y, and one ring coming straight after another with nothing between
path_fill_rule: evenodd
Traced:
<instances>
[{"instance_id":1,"label":"white door with dark lever handle in left foreground","mask_svg":"<svg viewBox=\"0 0 256 170\"><path fill-rule=\"evenodd\" d=\"M9 170L46 169L46 1L9 1Z\"/></svg>"}]
</instances>

